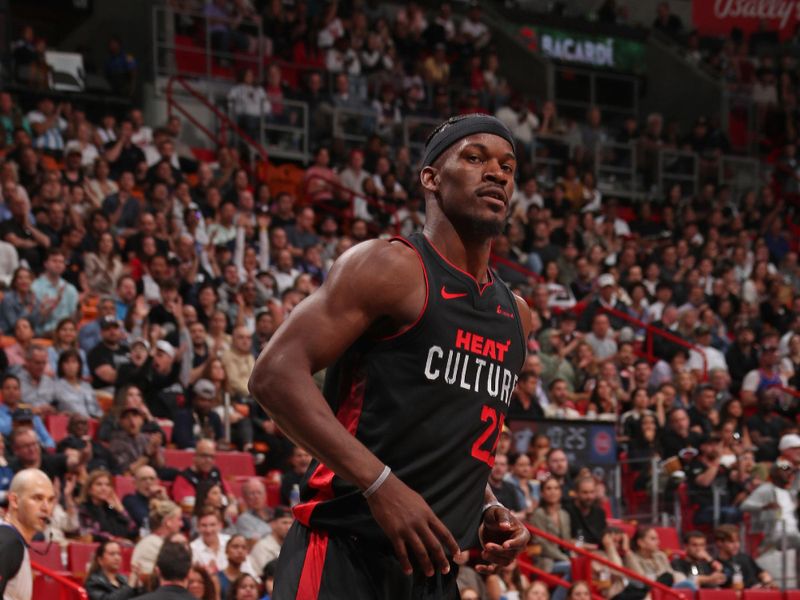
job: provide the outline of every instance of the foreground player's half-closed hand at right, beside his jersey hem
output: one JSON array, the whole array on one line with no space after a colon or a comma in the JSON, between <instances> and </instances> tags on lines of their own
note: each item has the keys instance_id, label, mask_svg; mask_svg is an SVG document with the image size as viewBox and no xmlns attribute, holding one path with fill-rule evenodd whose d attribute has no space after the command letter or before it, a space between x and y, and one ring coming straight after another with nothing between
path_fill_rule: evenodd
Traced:
<instances>
[{"instance_id":1,"label":"foreground player's half-closed hand at right, beside his jersey hem","mask_svg":"<svg viewBox=\"0 0 800 600\"><path fill-rule=\"evenodd\" d=\"M510 510L493 506L483 514L478 538L483 547L481 558L489 564L477 565L475 570L481 574L489 574L494 573L498 567L511 564L525 550L531 534Z\"/></svg>"}]
</instances>

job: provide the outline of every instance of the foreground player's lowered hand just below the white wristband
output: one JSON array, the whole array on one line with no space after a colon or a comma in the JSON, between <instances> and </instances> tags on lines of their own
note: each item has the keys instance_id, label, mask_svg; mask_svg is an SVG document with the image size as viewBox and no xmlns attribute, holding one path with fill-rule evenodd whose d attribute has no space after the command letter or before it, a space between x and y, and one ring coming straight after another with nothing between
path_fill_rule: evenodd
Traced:
<instances>
[{"instance_id":1,"label":"foreground player's lowered hand just below the white wristband","mask_svg":"<svg viewBox=\"0 0 800 600\"><path fill-rule=\"evenodd\" d=\"M394 546L403 571L413 571L410 555L426 577L438 569L450 572L450 560L459 552L453 534L417 492L394 475L367 499L372 516Z\"/></svg>"}]
</instances>

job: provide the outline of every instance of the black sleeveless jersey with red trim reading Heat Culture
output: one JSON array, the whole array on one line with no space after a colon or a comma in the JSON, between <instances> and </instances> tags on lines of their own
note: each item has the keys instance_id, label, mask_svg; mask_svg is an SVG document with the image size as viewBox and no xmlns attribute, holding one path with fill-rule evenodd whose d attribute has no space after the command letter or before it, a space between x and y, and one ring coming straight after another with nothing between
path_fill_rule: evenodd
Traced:
<instances>
[{"instance_id":1,"label":"black sleeveless jersey with red trim reading Heat Culture","mask_svg":"<svg viewBox=\"0 0 800 600\"><path fill-rule=\"evenodd\" d=\"M363 336L332 365L325 398L339 421L417 491L460 547L475 544L484 492L525 338L517 303L489 271L479 285L421 234L415 249L426 302L410 328ZM312 528L388 543L361 492L313 462L297 519Z\"/></svg>"}]
</instances>

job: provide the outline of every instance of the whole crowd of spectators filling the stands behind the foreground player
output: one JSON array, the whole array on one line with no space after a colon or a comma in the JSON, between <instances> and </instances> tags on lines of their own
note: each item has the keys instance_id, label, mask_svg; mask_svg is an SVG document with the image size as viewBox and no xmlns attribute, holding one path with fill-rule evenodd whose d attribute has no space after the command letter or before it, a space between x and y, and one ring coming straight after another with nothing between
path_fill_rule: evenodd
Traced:
<instances>
[{"instance_id":1,"label":"whole crowd of spectators filling the stands behind the foreground player","mask_svg":"<svg viewBox=\"0 0 800 600\"><path fill-rule=\"evenodd\" d=\"M206 15L249 6L219 0ZM134 108L94 119L46 95L21 105L0 92L0 488L32 466L58 481L54 539L101 542L92 600L147 587L161 544L181 539L193 539L197 598L258 593L274 574L310 456L249 397L254 360L348 248L421 230L414 158L393 125L490 111L520 156L496 270L534 322L509 421L613 423L635 491L647 495L655 479L661 506L671 506L684 489L692 525L711 533L688 534L686 557L670 562L651 528L629 537L610 527L604 482L544 435L526 448L501 435L490 478L497 497L535 526L669 585L771 585L775 573L741 553L736 525L757 516L765 556L780 521L790 546L800 545L800 265L787 180L737 194L704 176L696 194L674 186L626 206L594 181L599 142L635 142L647 180L648 153L689 148L711 164L727 150L723 132L704 118L683 137L658 114L609 124L596 108L578 122L551 102L537 107L502 80L478 6L463 20L447 4L435 14L414 3L396 13L326 6L308 15L302 2L269 3L273 53L313 70L292 81L274 64L263 85L245 71L229 96L245 128L262 109L280 115L291 98L374 109L361 147L318 133L302 190L274 190L236 146L197 159L176 117L148 123ZM214 44L249 49L246 22L258 14L234 25L220 17ZM178 19L182 31L197 19ZM447 85L471 91L454 104ZM563 166L538 169L533 159L545 156ZM47 428L57 413L70 415L58 443ZM167 443L194 448L193 465L168 465ZM266 506L260 478L237 498L215 466L228 449L252 452L262 475L280 471L281 506ZM663 466L653 470L653 459ZM116 475L132 476L135 492L117 497ZM126 583L121 546L134 544ZM537 545L538 566L570 574L568 553ZM468 556L457 561L463 598L547 596L518 566L484 580ZM609 597L647 593L615 573L593 579L606 581ZM568 597L583 600L585 587Z\"/></svg>"}]
</instances>

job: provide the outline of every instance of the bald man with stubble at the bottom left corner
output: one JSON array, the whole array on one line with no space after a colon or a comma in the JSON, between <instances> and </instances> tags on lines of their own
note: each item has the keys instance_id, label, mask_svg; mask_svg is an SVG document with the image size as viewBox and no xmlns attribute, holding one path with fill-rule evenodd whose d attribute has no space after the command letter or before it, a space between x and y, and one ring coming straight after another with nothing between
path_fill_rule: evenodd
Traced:
<instances>
[{"instance_id":1,"label":"bald man with stubble at the bottom left corner","mask_svg":"<svg viewBox=\"0 0 800 600\"><path fill-rule=\"evenodd\" d=\"M44 531L56 495L50 478L39 469L14 475L8 490L8 512L0 523L0 592L4 600L30 600L33 594L28 544Z\"/></svg>"}]
</instances>

